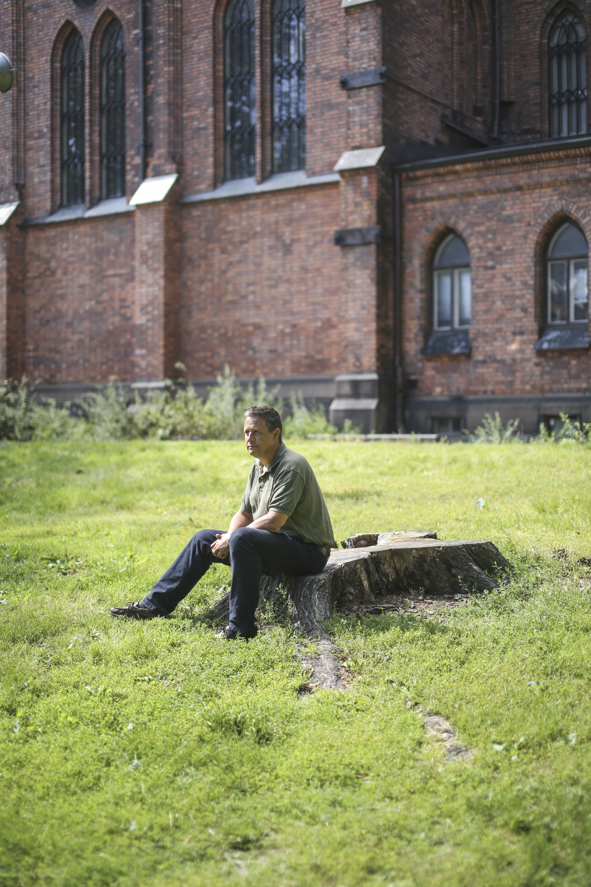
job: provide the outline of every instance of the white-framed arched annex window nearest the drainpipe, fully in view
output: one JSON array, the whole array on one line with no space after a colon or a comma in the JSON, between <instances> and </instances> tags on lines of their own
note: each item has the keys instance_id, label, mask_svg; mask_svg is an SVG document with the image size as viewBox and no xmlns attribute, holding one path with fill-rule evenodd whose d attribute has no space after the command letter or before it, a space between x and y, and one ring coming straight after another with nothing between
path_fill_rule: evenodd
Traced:
<instances>
[{"instance_id":1,"label":"white-framed arched annex window nearest the drainpipe, fully in view","mask_svg":"<svg viewBox=\"0 0 591 887\"><path fill-rule=\"evenodd\" d=\"M448 234L433 261L433 327L436 330L470 326L470 253L463 239Z\"/></svg>"}]
</instances>

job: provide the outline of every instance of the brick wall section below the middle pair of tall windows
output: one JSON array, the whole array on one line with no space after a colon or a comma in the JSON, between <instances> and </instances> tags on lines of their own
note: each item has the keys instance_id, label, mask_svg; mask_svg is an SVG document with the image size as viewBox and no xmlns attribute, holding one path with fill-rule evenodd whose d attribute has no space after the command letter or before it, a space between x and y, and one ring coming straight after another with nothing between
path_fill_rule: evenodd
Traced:
<instances>
[{"instance_id":1,"label":"brick wall section below the middle pair of tall windows","mask_svg":"<svg viewBox=\"0 0 591 887\"><path fill-rule=\"evenodd\" d=\"M181 359L191 378L342 365L338 185L183 206Z\"/></svg>"}]
</instances>

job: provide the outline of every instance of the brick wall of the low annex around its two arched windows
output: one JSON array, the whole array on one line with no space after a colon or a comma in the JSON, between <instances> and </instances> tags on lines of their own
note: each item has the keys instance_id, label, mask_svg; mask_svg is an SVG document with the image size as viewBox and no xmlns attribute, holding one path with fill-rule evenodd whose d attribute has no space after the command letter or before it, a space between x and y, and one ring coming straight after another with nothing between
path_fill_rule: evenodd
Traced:
<instances>
[{"instance_id":1,"label":"brick wall of the low annex around its two arched windows","mask_svg":"<svg viewBox=\"0 0 591 887\"><path fill-rule=\"evenodd\" d=\"M540 354L543 250L572 218L591 242L588 154L529 155L403 177L403 353L416 396L582 391L588 351ZM447 230L470 250L470 357L422 357L432 329L432 253Z\"/></svg>"}]
</instances>

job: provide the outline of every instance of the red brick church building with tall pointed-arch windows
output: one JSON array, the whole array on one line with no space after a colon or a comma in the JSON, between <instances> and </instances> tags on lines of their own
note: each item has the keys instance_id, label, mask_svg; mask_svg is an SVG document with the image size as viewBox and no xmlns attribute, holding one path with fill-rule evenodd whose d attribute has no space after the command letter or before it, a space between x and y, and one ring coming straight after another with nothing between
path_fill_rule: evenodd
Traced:
<instances>
[{"instance_id":1,"label":"red brick church building with tall pointed-arch windows","mask_svg":"<svg viewBox=\"0 0 591 887\"><path fill-rule=\"evenodd\" d=\"M591 2L0 0L0 374L591 420Z\"/></svg>"}]
</instances>

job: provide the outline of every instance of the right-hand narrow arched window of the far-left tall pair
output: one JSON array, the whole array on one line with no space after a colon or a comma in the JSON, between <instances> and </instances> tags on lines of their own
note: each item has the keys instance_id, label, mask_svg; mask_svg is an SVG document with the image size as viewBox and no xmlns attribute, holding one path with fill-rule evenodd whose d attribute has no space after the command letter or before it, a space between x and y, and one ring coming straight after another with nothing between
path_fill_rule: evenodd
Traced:
<instances>
[{"instance_id":1,"label":"right-hand narrow arched window of the far-left tall pair","mask_svg":"<svg viewBox=\"0 0 591 887\"><path fill-rule=\"evenodd\" d=\"M125 35L116 19L100 51L100 192L103 200L125 194Z\"/></svg>"}]
</instances>

